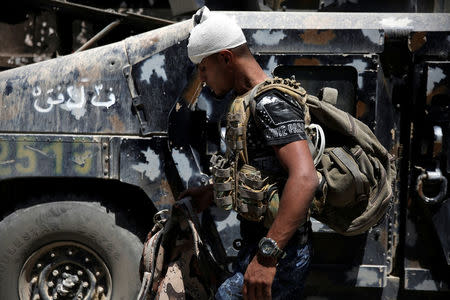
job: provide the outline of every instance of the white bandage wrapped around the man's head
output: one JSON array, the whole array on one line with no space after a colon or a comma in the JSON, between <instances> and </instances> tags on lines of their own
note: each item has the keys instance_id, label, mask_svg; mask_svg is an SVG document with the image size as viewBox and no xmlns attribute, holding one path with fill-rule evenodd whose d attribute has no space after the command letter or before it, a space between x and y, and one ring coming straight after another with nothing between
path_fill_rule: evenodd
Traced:
<instances>
[{"instance_id":1,"label":"white bandage wrapped around the man's head","mask_svg":"<svg viewBox=\"0 0 450 300\"><path fill-rule=\"evenodd\" d=\"M247 42L236 21L221 13L212 14L206 6L199 9L192 20L194 28L189 36L187 50L189 59L194 64L199 64L211 54Z\"/></svg>"}]
</instances>

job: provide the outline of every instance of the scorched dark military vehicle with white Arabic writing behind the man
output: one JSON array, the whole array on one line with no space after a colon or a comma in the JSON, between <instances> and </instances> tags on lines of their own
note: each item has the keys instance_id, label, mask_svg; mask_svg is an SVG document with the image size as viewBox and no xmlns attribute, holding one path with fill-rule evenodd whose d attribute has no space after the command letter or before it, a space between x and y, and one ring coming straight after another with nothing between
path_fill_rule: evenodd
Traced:
<instances>
[{"instance_id":1,"label":"scorched dark military vehicle with white Arabic writing behind the man","mask_svg":"<svg viewBox=\"0 0 450 300\"><path fill-rule=\"evenodd\" d=\"M268 74L336 88L396 157L389 211L367 233L313 220L305 296L448 297L450 15L230 14ZM0 299L135 298L152 216L206 184L224 151L231 97L202 88L191 26L0 73ZM236 216L202 219L231 262Z\"/></svg>"}]
</instances>

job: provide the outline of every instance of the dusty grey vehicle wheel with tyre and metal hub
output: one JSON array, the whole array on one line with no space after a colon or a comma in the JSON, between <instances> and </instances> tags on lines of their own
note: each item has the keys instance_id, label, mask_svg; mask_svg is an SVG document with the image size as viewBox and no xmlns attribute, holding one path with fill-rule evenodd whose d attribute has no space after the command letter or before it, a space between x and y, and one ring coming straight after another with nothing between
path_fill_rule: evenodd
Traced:
<instances>
[{"instance_id":1,"label":"dusty grey vehicle wheel with tyre and metal hub","mask_svg":"<svg viewBox=\"0 0 450 300\"><path fill-rule=\"evenodd\" d=\"M0 299L135 299L141 253L99 203L19 209L0 222Z\"/></svg>"}]
</instances>

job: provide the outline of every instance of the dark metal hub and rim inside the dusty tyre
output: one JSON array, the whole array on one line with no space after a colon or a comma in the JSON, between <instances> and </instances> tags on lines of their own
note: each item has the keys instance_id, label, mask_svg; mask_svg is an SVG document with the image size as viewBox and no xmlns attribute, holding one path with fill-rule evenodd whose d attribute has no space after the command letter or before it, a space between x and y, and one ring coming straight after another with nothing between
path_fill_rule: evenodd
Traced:
<instances>
[{"instance_id":1,"label":"dark metal hub and rim inside the dusty tyre","mask_svg":"<svg viewBox=\"0 0 450 300\"><path fill-rule=\"evenodd\" d=\"M103 260L75 242L56 242L34 252L19 277L21 299L108 300L111 275Z\"/></svg>"}]
</instances>

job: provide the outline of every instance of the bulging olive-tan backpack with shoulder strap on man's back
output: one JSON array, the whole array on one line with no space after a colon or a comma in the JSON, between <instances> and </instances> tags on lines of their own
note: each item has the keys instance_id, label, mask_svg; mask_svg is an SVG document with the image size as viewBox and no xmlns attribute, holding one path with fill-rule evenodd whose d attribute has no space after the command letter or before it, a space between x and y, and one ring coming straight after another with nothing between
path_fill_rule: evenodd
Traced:
<instances>
[{"instance_id":1,"label":"bulging olive-tan backpack with shoulder strap on man's back","mask_svg":"<svg viewBox=\"0 0 450 300\"><path fill-rule=\"evenodd\" d=\"M307 94L295 79L275 77L255 87L248 97L252 114L256 106L254 99L271 89L297 100L304 109L307 128L313 125L312 120L320 125L315 127L323 128L333 137L322 149L310 147L316 154L313 158L317 160L321 181L312 201L311 216L343 235L362 234L378 223L393 195L396 176L393 156L366 124ZM245 122L248 119L247 116ZM310 140L317 141L317 131L306 132Z\"/></svg>"}]
</instances>

